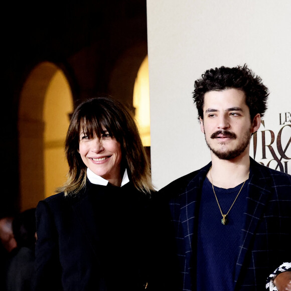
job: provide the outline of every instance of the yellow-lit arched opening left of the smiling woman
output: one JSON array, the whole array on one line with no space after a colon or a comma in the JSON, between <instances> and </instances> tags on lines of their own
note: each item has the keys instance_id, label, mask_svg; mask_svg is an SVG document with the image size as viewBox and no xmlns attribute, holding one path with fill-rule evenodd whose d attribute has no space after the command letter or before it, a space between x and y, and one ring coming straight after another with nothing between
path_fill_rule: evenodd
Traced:
<instances>
[{"instance_id":1,"label":"yellow-lit arched opening left of the smiling woman","mask_svg":"<svg viewBox=\"0 0 291 291\"><path fill-rule=\"evenodd\" d=\"M20 209L36 207L65 181L64 139L73 111L64 73L53 63L36 66L20 96Z\"/></svg>"}]
</instances>

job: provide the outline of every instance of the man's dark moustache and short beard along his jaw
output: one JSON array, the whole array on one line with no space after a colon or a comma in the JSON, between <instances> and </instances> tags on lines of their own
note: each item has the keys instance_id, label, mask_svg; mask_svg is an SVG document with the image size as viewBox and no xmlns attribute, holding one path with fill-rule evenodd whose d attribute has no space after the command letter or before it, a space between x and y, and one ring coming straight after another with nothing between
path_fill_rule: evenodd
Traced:
<instances>
[{"instance_id":1,"label":"man's dark moustache and short beard along his jaw","mask_svg":"<svg viewBox=\"0 0 291 291\"><path fill-rule=\"evenodd\" d=\"M223 134L226 137L236 139L236 134L234 132L227 131L227 130L218 130L218 131L212 133L210 138L215 139L216 136L218 136L219 134ZM205 140L206 140L206 143L208 145L208 148L220 160L232 160L232 159L238 157L240 154L242 154L250 142L250 137L251 137L251 133L250 133L250 129L249 129L249 131L245 132L245 135L244 135L242 142L237 146L236 149L229 150L229 151L221 151L221 150L214 150L213 148L210 147L210 144L207 142L206 134L205 134ZM222 145L222 147L223 147L223 145Z\"/></svg>"}]
</instances>

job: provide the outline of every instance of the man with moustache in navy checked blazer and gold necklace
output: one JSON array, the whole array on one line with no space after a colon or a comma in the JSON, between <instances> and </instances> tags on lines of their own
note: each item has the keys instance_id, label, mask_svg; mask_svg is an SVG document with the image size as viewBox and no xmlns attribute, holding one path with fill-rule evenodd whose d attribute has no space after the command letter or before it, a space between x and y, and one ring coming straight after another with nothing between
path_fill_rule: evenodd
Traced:
<instances>
[{"instance_id":1,"label":"man with moustache in navy checked blazer and gold necklace","mask_svg":"<svg viewBox=\"0 0 291 291\"><path fill-rule=\"evenodd\" d=\"M194 101L211 163L160 191L170 206L183 290L263 290L290 262L291 176L249 157L268 89L247 66L207 70ZM274 280L288 290L291 272Z\"/></svg>"}]
</instances>

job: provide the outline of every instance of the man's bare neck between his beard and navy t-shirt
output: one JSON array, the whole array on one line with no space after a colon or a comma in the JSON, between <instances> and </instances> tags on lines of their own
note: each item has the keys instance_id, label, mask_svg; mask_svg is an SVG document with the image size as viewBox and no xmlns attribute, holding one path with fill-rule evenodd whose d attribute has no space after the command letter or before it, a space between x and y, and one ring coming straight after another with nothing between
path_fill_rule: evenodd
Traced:
<instances>
[{"instance_id":1,"label":"man's bare neck between his beard and navy t-shirt","mask_svg":"<svg viewBox=\"0 0 291 291\"><path fill-rule=\"evenodd\" d=\"M211 153L212 168L207 178L216 187L234 188L243 183L249 176L249 153L240 155L232 160L220 160Z\"/></svg>"}]
</instances>

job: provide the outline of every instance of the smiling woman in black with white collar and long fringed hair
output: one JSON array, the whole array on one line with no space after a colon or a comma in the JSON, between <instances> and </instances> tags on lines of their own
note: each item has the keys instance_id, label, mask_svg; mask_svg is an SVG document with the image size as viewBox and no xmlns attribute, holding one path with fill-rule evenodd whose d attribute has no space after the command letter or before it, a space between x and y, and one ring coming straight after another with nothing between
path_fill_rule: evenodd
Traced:
<instances>
[{"instance_id":1,"label":"smiling woman in black with white collar and long fringed hair","mask_svg":"<svg viewBox=\"0 0 291 291\"><path fill-rule=\"evenodd\" d=\"M148 283L150 166L130 111L81 103L65 152L68 179L36 211L36 290L142 290Z\"/></svg>"}]
</instances>

